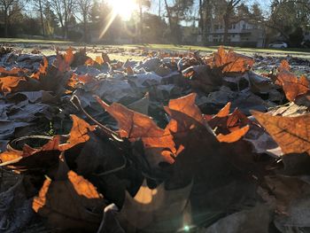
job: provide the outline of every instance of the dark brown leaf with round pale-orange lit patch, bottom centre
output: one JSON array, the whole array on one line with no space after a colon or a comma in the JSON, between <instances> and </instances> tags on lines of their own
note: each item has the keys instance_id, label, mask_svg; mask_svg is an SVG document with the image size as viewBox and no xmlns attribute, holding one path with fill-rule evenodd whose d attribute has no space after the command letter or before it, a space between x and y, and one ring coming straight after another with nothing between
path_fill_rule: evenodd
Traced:
<instances>
[{"instance_id":1,"label":"dark brown leaf with round pale-orange lit patch, bottom centre","mask_svg":"<svg viewBox=\"0 0 310 233\"><path fill-rule=\"evenodd\" d=\"M192 183L178 190L166 190L162 183L151 190L144 182L136 196L126 194L120 218L147 232L182 228L182 214L188 204Z\"/></svg>"}]
</instances>

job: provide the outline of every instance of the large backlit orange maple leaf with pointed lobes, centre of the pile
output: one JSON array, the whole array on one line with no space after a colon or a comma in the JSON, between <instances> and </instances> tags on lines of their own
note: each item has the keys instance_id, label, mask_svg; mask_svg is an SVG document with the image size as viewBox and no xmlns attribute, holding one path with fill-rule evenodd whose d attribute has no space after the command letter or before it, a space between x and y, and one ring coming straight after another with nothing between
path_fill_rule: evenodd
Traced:
<instances>
[{"instance_id":1,"label":"large backlit orange maple leaf with pointed lobes, centre of the pile","mask_svg":"<svg viewBox=\"0 0 310 233\"><path fill-rule=\"evenodd\" d=\"M97 102L118 121L120 136L127 137L130 141L142 139L144 148L161 148L161 156L167 162L174 163L174 158L182 151L182 146L174 144L174 134L186 135L187 131L204 125L204 119L197 105L196 94L170 100L165 107L172 120L165 129L159 128L151 117L142 113L136 113L127 107L113 103L107 105L99 97Z\"/></svg>"}]
</instances>

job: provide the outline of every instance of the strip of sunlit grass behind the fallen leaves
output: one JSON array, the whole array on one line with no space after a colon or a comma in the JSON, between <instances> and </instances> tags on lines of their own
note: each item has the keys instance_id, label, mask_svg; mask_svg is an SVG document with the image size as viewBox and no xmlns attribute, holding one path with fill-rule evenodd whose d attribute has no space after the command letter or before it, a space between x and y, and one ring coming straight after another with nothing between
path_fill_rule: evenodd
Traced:
<instances>
[{"instance_id":1,"label":"strip of sunlit grass behind the fallen leaves","mask_svg":"<svg viewBox=\"0 0 310 233\"><path fill-rule=\"evenodd\" d=\"M188 50L200 50L202 53L210 53L218 49L218 46L193 46L193 45L176 45L176 44L122 44L122 45L106 45L99 43L73 43L68 41L53 41L53 40L40 40L40 39L19 39L19 38L0 38L0 43L6 45L15 45L24 50L31 50L32 48L39 48L43 50L43 53L49 55L54 54L52 46L58 46L60 49L65 49L68 46L83 47L86 46L89 49L115 49L121 48L124 50L132 49L148 49L148 50L167 50L167 51L188 51ZM50 47L48 47L50 46ZM259 54L262 56L275 56L285 57L287 55L299 58L310 59L310 49L258 49L258 48L240 48L240 47L227 47L233 49L236 52L240 52L246 55L252 56L253 54ZM93 57L92 54L90 54ZM95 55L94 55L95 56ZM137 56L131 56L130 54L112 54L112 58L124 60L127 58L136 58Z\"/></svg>"}]
</instances>

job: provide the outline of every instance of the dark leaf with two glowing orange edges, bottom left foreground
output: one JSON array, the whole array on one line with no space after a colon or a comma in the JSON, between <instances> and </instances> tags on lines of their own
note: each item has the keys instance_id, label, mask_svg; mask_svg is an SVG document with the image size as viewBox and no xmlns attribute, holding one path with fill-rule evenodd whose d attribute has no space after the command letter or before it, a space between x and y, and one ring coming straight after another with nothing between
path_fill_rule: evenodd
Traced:
<instances>
[{"instance_id":1,"label":"dark leaf with two glowing orange edges, bottom left foreground","mask_svg":"<svg viewBox=\"0 0 310 233\"><path fill-rule=\"evenodd\" d=\"M39 195L34 198L34 211L46 217L50 225L63 230L96 231L105 207L102 195L81 175L63 170L66 175L61 175L60 179L45 180Z\"/></svg>"}]
</instances>

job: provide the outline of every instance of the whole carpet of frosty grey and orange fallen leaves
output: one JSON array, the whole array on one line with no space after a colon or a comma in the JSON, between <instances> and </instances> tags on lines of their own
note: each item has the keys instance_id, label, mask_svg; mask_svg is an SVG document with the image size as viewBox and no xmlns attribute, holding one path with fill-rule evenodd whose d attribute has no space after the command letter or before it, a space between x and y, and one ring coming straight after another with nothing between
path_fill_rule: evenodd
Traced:
<instances>
[{"instance_id":1,"label":"whole carpet of frosty grey and orange fallen leaves","mask_svg":"<svg viewBox=\"0 0 310 233\"><path fill-rule=\"evenodd\" d=\"M0 232L306 232L310 85L253 66L2 50Z\"/></svg>"}]
</instances>

